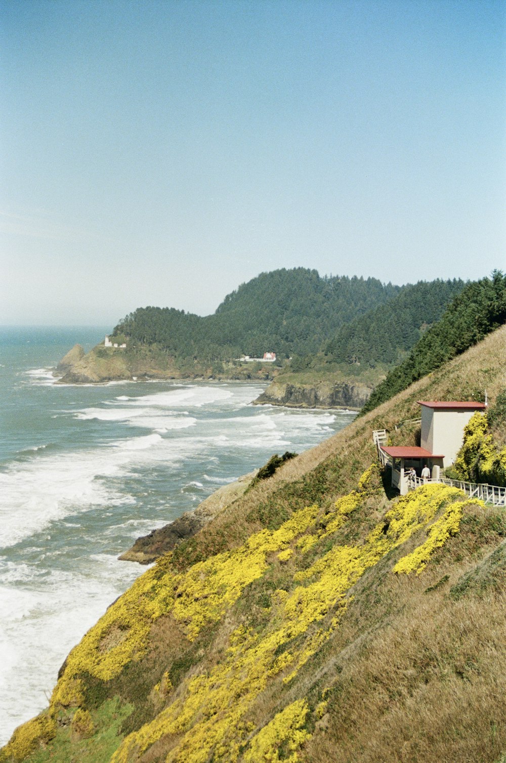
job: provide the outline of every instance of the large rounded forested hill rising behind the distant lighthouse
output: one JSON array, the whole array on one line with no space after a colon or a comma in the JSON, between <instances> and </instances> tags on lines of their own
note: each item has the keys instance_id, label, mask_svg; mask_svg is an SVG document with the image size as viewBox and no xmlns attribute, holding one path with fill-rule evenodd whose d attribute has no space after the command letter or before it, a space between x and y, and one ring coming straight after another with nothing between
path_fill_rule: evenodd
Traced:
<instances>
[{"instance_id":1,"label":"large rounded forested hill rising behind the distant lighthouse","mask_svg":"<svg viewBox=\"0 0 506 763\"><path fill-rule=\"evenodd\" d=\"M316 353L344 324L385 304L404 287L376 278L321 277L295 268L240 285L213 315L140 307L114 328L133 345L156 344L176 357L231 359L273 350L279 358Z\"/></svg>"}]
</instances>

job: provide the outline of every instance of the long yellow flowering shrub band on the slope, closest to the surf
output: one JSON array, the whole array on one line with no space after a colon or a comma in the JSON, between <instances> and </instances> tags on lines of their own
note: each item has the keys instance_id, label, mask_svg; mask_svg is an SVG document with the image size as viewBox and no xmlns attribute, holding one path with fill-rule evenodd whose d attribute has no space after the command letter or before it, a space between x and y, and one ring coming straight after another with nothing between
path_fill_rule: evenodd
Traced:
<instances>
[{"instance_id":1,"label":"long yellow flowering shrub band on the slope, closest to the surf","mask_svg":"<svg viewBox=\"0 0 506 763\"><path fill-rule=\"evenodd\" d=\"M108 681L127 662L139 659L147 648L153 620L164 614L172 613L193 641L203 627L220 620L248 584L263 575L267 556L285 550L314 523L317 512L317 506L306 507L279 530L255 533L239 549L198 562L184 574L158 575L156 566L145 572L70 652L52 707L81 703L79 674Z\"/></svg>"}]
</instances>

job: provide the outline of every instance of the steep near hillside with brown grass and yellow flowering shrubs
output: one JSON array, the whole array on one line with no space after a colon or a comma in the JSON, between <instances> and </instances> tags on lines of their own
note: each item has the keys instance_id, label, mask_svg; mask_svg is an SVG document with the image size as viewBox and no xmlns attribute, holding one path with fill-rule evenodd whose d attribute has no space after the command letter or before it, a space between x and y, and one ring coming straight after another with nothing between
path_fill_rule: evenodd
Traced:
<instances>
[{"instance_id":1,"label":"steep near hillside with brown grass and yellow flowering shrubs","mask_svg":"<svg viewBox=\"0 0 506 763\"><path fill-rule=\"evenodd\" d=\"M372 429L504 388L506 327L259 481L70 653L0 761L490 761L506 752L506 516L389 500Z\"/></svg>"}]
</instances>

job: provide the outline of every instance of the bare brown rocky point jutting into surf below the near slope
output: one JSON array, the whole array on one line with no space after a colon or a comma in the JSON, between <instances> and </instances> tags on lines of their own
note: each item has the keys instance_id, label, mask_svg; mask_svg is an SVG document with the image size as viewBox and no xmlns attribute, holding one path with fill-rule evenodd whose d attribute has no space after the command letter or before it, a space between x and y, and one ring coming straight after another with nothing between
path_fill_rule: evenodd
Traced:
<instances>
[{"instance_id":1,"label":"bare brown rocky point jutting into surf below the near slope","mask_svg":"<svg viewBox=\"0 0 506 763\"><path fill-rule=\"evenodd\" d=\"M134 546L121 554L118 559L121 559L121 562L139 562L141 565L154 562L159 556L171 551L177 543L198 533L216 514L237 501L237 498L246 491L257 471L243 475L230 485L218 488L201 504L198 504L195 510L185 511L181 517L170 524L137 538Z\"/></svg>"}]
</instances>

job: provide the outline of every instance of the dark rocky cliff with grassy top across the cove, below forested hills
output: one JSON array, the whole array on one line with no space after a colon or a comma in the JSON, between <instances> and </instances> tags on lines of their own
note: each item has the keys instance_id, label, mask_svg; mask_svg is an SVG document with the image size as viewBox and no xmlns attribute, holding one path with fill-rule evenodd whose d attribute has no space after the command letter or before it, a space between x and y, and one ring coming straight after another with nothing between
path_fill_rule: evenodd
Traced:
<instances>
[{"instance_id":1,"label":"dark rocky cliff with grassy top across the cove, below forested hills","mask_svg":"<svg viewBox=\"0 0 506 763\"><path fill-rule=\"evenodd\" d=\"M372 386L338 382L321 382L314 386L279 384L270 385L255 404L286 405L301 408L361 408L369 399Z\"/></svg>"}]
</instances>

